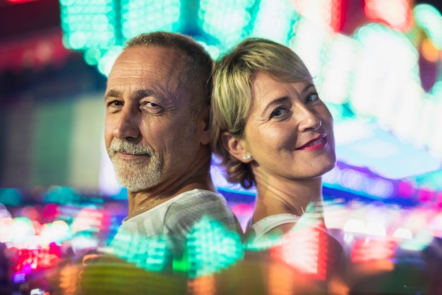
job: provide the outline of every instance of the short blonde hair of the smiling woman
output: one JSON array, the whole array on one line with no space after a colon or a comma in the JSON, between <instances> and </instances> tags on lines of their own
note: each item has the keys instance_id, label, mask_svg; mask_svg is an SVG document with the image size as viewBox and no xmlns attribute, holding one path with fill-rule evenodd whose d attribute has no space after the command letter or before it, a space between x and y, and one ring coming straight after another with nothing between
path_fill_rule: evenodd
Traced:
<instances>
[{"instance_id":1,"label":"short blonde hair of the smiling woman","mask_svg":"<svg viewBox=\"0 0 442 295\"><path fill-rule=\"evenodd\" d=\"M304 62L289 47L262 38L248 38L219 59L213 69L211 146L225 166L227 180L249 188L255 183L249 163L234 158L222 144L222 133L244 138L251 110L252 84L258 72L277 81L310 79Z\"/></svg>"}]
</instances>

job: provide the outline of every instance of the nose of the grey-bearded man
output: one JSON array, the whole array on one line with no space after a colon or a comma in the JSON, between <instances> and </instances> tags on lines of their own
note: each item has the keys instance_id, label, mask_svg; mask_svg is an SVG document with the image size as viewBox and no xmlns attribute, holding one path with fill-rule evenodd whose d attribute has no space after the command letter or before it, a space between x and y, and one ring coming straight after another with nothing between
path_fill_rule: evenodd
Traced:
<instances>
[{"instance_id":1,"label":"nose of the grey-bearded man","mask_svg":"<svg viewBox=\"0 0 442 295\"><path fill-rule=\"evenodd\" d=\"M123 108L119 113L114 127L114 137L117 139L137 138L140 136L138 112Z\"/></svg>"}]
</instances>

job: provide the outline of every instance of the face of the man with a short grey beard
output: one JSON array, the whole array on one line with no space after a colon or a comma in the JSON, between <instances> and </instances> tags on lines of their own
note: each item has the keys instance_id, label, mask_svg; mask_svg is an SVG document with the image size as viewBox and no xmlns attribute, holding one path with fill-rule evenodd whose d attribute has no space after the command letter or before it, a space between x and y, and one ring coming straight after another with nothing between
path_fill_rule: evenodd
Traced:
<instances>
[{"instance_id":1,"label":"face of the man with a short grey beard","mask_svg":"<svg viewBox=\"0 0 442 295\"><path fill-rule=\"evenodd\" d=\"M117 59L104 97L104 139L119 183L133 192L173 183L198 157L200 140L181 59L171 48L136 46Z\"/></svg>"}]
</instances>

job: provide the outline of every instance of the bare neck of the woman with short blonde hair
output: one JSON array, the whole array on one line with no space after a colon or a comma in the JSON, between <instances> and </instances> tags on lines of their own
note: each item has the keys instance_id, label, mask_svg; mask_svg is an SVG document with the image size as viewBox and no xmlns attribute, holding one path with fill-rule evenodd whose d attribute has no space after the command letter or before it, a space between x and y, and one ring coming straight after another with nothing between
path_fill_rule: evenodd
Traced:
<instances>
[{"instance_id":1,"label":"bare neck of the woman with short blonde hair","mask_svg":"<svg viewBox=\"0 0 442 295\"><path fill-rule=\"evenodd\" d=\"M312 202L322 216L322 180L289 180L255 173L256 196L253 223L265 216L295 214L301 216ZM311 204L312 205L312 204ZM312 209L312 207L309 207Z\"/></svg>"}]
</instances>

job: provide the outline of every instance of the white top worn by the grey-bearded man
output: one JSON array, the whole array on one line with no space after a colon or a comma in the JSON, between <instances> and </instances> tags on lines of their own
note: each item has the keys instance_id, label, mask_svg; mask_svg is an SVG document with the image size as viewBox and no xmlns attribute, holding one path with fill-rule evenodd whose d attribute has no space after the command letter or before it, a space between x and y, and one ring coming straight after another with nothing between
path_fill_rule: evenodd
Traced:
<instances>
[{"instance_id":1,"label":"white top worn by the grey-bearded man","mask_svg":"<svg viewBox=\"0 0 442 295\"><path fill-rule=\"evenodd\" d=\"M189 233L203 219L217 221L228 232L241 231L222 195L195 189L124 219L107 252L129 262L144 261L150 269L155 269L157 263L160 270L171 255L182 255Z\"/></svg>"}]
</instances>

